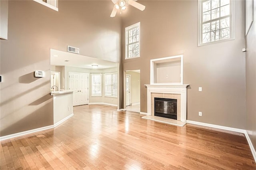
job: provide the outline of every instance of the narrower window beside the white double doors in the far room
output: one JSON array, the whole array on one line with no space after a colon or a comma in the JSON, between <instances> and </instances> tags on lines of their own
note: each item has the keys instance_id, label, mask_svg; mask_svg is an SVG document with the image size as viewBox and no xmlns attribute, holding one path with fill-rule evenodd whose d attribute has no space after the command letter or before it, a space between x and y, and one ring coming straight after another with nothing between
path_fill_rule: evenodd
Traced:
<instances>
[{"instance_id":1,"label":"narrower window beside the white double doors in the far room","mask_svg":"<svg viewBox=\"0 0 256 170\"><path fill-rule=\"evenodd\" d=\"M92 74L92 97L101 95L101 73Z\"/></svg>"}]
</instances>

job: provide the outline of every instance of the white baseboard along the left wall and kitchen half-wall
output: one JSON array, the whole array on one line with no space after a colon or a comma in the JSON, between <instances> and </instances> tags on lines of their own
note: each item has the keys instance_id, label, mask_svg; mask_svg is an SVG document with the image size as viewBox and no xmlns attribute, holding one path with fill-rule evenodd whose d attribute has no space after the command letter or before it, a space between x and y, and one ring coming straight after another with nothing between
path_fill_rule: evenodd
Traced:
<instances>
[{"instance_id":1,"label":"white baseboard along the left wall and kitchen half-wall","mask_svg":"<svg viewBox=\"0 0 256 170\"><path fill-rule=\"evenodd\" d=\"M32 130L27 130L27 131L24 131L24 132L18 132L18 133L9 134L9 135L6 135L6 136L1 136L0 137L0 141L6 140L6 139L10 139L10 138L15 138L15 137L18 137L18 136L23 136L23 135L34 133L34 132L40 132L40 131L43 131L43 130L47 130L47 129L50 129L50 128L57 127L58 125L60 125L61 123L63 123L64 121L66 121L67 119L69 119L72 116L74 116L74 113L72 113L71 115L65 117L64 119L62 119L61 121L55 123L54 125L50 125L50 126L47 126L47 127L40 127L40 128L35 128L35 129L32 129Z\"/></svg>"}]
</instances>

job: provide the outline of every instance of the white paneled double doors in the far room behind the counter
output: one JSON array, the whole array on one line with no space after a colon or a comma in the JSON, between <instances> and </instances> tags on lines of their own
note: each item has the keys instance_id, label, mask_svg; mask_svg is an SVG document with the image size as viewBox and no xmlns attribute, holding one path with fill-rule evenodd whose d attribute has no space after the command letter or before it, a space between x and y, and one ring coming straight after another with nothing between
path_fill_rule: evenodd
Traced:
<instances>
[{"instance_id":1,"label":"white paneled double doors in the far room behind the counter","mask_svg":"<svg viewBox=\"0 0 256 170\"><path fill-rule=\"evenodd\" d=\"M73 106L88 104L88 73L68 74L68 89L73 90Z\"/></svg>"}]
</instances>

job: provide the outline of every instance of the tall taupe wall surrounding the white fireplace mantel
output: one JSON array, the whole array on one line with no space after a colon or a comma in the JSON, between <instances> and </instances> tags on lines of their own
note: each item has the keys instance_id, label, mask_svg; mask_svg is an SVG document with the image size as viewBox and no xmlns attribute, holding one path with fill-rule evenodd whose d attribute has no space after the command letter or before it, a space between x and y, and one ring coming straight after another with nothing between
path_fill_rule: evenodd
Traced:
<instances>
[{"instance_id":1,"label":"tall taupe wall surrounding the white fireplace mantel","mask_svg":"<svg viewBox=\"0 0 256 170\"><path fill-rule=\"evenodd\" d=\"M245 128L244 1L235 1L235 40L198 47L198 1L140 1L141 12L128 7L124 28L140 22L140 57L123 60L124 70L140 69L140 103L147 111L150 59L183 54L184 84L188 87L187 119ZM198 87L203 91L199 92ZM203 116L199 117L201 111Z\"/></svg>"}]
</instances>

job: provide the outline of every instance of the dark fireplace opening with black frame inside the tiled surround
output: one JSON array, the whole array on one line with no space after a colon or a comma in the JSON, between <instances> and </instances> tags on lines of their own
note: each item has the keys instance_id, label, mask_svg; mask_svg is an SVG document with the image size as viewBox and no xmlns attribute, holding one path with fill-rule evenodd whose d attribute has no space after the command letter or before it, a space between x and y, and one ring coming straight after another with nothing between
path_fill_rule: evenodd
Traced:
<instances>
[{"instance_id":1,"label":"dark fireplace opening with black frame inside the tiled surround","mask_svg":"<svg viewBox=\"0 0 256 170\"><path fill-rule=\"evenodd\" d=\"M177 120L177 99L154 98L155 116Z\"/></svg>"}]
</instances>

